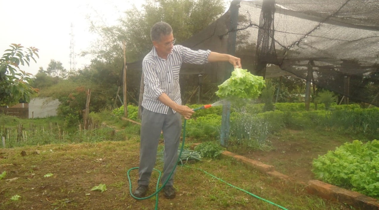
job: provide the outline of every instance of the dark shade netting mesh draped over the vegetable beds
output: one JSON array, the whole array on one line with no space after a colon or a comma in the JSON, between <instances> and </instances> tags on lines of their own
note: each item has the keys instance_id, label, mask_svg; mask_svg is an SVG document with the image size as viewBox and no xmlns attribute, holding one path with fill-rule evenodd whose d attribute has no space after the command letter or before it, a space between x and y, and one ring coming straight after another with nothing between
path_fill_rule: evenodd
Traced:
<instances>
[{"instance_id":1,"label":"dark shade netting mesh draped over the vegetable beds","mask_svg":"<svg viewBox=\"0 0 379 210\"><path fill-rule=\"evenodd\" d=\"M235 53L255 75L308 78L379 106L378 11L377 0L234 0L216 22L180 44ZM134 66L140 67L128 69ZM231 70L226 62L185 64L181 74L208 74L221 84Z\"/></svg>"}]
</instances>

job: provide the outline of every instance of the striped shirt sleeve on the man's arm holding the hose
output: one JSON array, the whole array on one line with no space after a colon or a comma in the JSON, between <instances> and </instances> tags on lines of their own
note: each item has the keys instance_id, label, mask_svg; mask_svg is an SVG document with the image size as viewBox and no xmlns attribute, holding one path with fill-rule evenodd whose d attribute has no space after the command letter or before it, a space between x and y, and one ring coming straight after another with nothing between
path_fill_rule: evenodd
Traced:
<instances>
[{"instance_id":1,"label":"striped shirt sleeve on the man's arm holding the hose","mask_svg":"<svg viewBox=\"0 0 379 210\"><path fill-rule=\"evenodd\" d=\"M161 89L160 81L155 71L155 66L149 61L142 62L142 72L144 74L144 82L147 87L147 91L149 91L149 95L153 96L153 98L158 99L158 97L165 93L166 90Z\"/></svg>"}]
</instances>

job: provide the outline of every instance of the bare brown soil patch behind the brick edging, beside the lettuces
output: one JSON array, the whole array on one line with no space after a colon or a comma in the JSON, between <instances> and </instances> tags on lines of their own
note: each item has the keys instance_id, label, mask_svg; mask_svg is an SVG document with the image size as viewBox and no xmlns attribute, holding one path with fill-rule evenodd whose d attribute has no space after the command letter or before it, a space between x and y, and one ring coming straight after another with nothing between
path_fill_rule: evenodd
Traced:
<instances>
[{"instance_id":1,"label":"bare brown soil patch behind the brick edging, beside the lettuces","mask_svg":"<svg viewBox=\"0 0 379 210\"><path fill-rule=\"evenodd\" d=\"M273 147L271 151L233 152L272 165L276 171L306 183L315 179L312 173L313 159L326 154L327 151L334 151L346 141L353 140L350 137L329 136L326 132L318 133L316 137L309 135L307 131L286 129L281 134L269 138L268 142Z\"/></svg>"}]
</instances>

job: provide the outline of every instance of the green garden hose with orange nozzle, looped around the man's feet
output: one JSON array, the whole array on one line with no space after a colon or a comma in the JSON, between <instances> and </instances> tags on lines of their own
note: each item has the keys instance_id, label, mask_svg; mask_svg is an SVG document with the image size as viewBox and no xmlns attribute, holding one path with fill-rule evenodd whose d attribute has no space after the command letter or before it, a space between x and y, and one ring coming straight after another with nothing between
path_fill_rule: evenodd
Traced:
<instances>
[{"instance_id":1,"label":"green garden hose with orange nozzle, looped around the man's feet","mask_svg":"<svg viewBox=\"0 0 379 210\"><path fill-rule=\"evenodd\" d=\"M212 104L207 104L207 105L204 105L204 106L198 107L198 108L193 109L193 110L194 110L194 111L197 111L197 110L199 110L199 109L208 109L208 108L210 108L210 107L212 107ZM182 155L183 148L184 148L185 136L186 136L186 123L187 123L187 120L185 119L185 120L184 120L184 123L183 123L183 141L182 141L182 146L181 146L181 148L180 148L179 157L178 157L177 162L179 162L179 160L180 160L180 156ZM128 176L128 180L129 180L129 192L130 192L130 195L131 195L134 199L137 199L137 200L149 199L149 198L155 196L155 210L157 210L157 209L158 209L158 193L159 193L159 192L164 188L164 186L167 184L168 180L169 180L170 177L172 176L172 173L174 173L176 166L177 166L177 164L174 165L174 168L172 169L171 173L169 174L167 180L162 184L161 187L158 187L158 186L159 186L159 181L160 181L160 179L161 179L161 174L162 174L162 173L161 173L161 171L159 171L159 170L153 168L153 170L158 171L158 173L159 173L158 181L157 181L156 191L155 191L155 193L151 194L150 196L147 196L147 197L144 197L144 198L137 198L136 196L133 195L133 192L132 192L132 181L130 180L130 175L129 175L129 174L130 174L130 171L135 170L135 169L138 169L139 167L130 168L130 169L128 170L128 172L127 172L127 176ZM185 165L185 166L186 166L186 165ZM188 167L188 168L193 168L193 167L190 167L190 166L186 166L186 167ZM229 184L228 182L226 182L226 181L224 181L224 180L222 180L222 179L220 179L220 178L218 178L218 177L216 177L216 176L214 176L214 175L208 173L207 171L204 171L204 170L202 170L202 169L200 169L200 168L194 168L194 169L197 169L197 170L199 170L199 171L202 171L202 172L208 174L209 176L214 177L214 178L220 180L221 182L224 182L225 184L227 184L227 185L229 185L229 186L231 186L231 187L236 188L237 190L241 190L241 191L243 191L244 193L247 193L247 194L253 196L254 198L261 199L262 201L268 202L269 204L275 205L276 207L279 207L279 208L281 208L281 209L283 209L283 210L288 210L287 208L284 208L284 207L282 207L282 206L280 206L280 205L277 205L277 204L275 204L275 203L273 203L273 202L271 202L271 201L268 201L268 200L266 200L266 199L260 198L260 197L256 196L255 194L252 194L252 193L250 193L250 192L248 192L248 191L246 191L246 190L243 190L243 189L241 189L241 188L238 188L238 187L236 187L236 186L234 186L234 185L232 185L232 184Z\"/></svg>"}]
</instances>

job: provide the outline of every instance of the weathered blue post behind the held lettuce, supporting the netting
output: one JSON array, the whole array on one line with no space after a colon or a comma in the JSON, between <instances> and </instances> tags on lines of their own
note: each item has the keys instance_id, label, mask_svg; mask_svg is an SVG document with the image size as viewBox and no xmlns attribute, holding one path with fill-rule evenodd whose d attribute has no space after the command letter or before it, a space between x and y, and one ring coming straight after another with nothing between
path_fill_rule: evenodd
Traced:
<instances>
[{"instance_id":1,"label":"weathered blue post behind the held lettuce, supporting the netting","mask_svg":"<svg viewBox=\"0 0 379 210\"><path fill-rule=\"evenodd\" d=\"M229 25L229 34L228 34L228 45L227 53L234 55L235 46L236 46L236 37L237 37L237 23L238 23L238 9L240 8L240 0L233 0L230 3L230 25ZM225 74L224 80L228 79L232 73L233 67L230 70L229 74ZM221 119L221 135L220 143L221 146L228 146L229 139L229 129L230 129L230 103L222 106L222 119Z\"/></svg>"}]
</instances>

